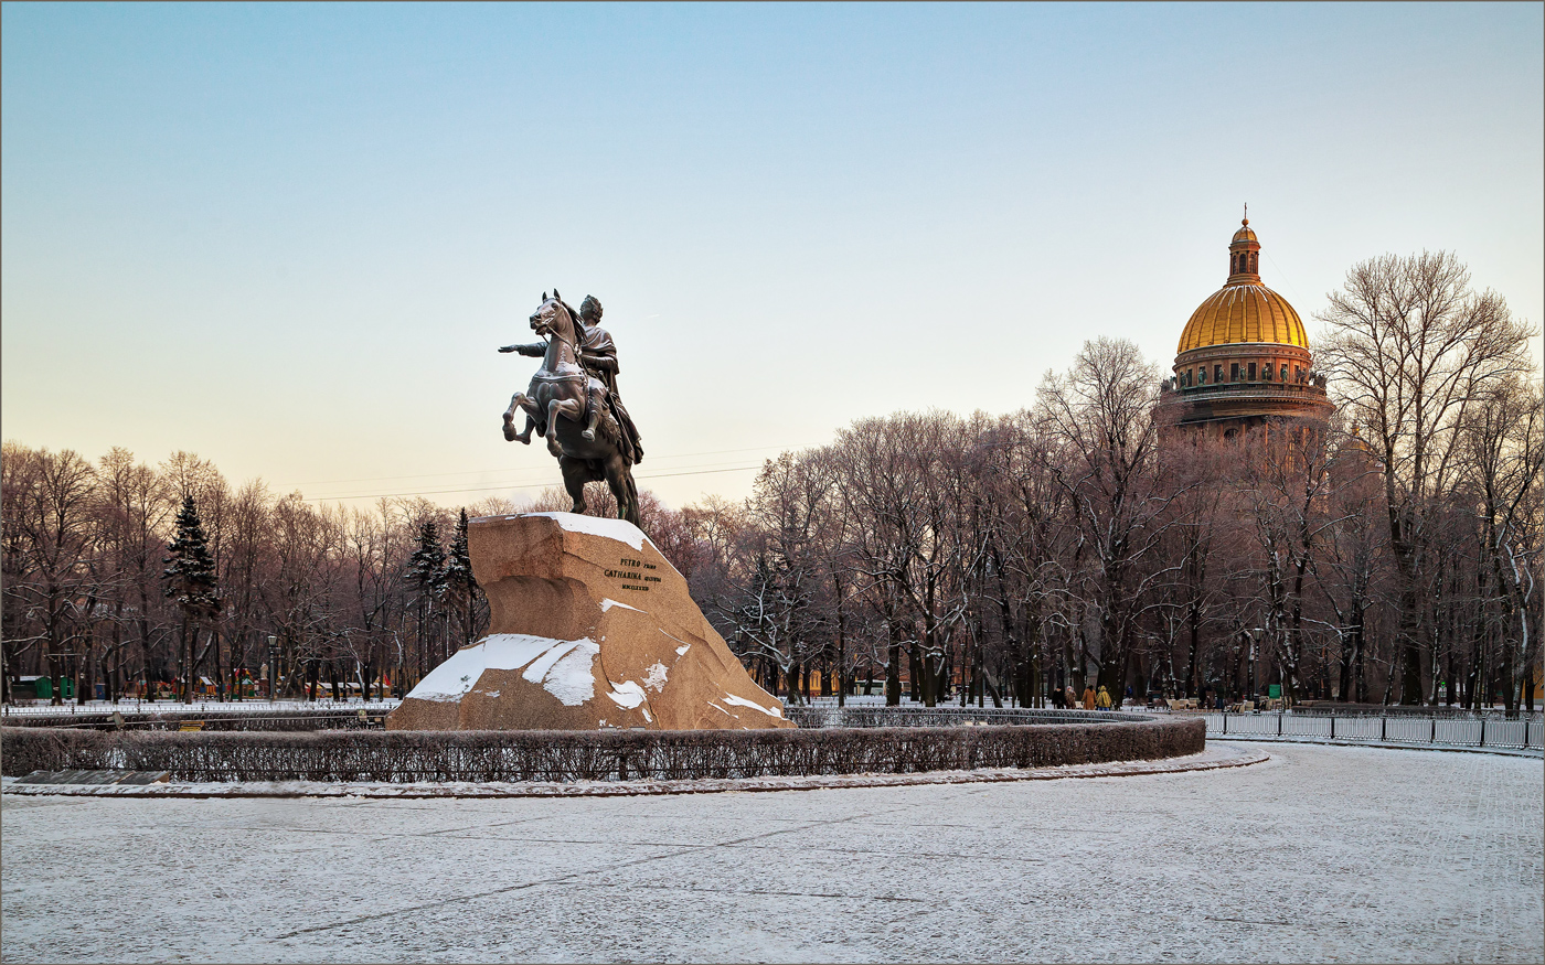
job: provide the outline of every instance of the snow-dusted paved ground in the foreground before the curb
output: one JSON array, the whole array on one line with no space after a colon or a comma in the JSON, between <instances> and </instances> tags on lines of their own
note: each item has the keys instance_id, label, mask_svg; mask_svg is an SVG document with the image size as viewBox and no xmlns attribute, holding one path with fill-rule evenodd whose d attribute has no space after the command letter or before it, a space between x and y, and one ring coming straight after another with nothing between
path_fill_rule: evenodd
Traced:
<instances>
[{"instance_id":1,"label":"snow-dusted paved ground in the foreground before the curb","mask_svg":"<svg viewBox=\"0 0 1545 965\"><path fill-rule=\"evenodd\" d=\"M1545 959L1540 761L0 806L5 960Z\"/></svg>"}]
</instances>

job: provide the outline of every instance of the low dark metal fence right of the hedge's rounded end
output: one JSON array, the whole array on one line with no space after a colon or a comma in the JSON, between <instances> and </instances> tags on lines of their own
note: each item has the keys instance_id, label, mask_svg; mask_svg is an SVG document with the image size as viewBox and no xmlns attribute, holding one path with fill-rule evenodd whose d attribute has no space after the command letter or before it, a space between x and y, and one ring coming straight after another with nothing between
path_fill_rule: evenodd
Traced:
<instances>
[{"instance_id":1,"label":"low dark metal fence right of the hedge's rounded end","mask_svg":"<svg viewBox=\"0 0 1545 965\"><path fill-rule=\"evenodd\" d=\"M1437 747L1499 747L1539 750L1545 744L1540 715L1516 718L1482 715L1336 716L1326 713L1200 713L1210 738L1335 741L1338 744L1394 744Z\"/></svg>"}]
</instances>

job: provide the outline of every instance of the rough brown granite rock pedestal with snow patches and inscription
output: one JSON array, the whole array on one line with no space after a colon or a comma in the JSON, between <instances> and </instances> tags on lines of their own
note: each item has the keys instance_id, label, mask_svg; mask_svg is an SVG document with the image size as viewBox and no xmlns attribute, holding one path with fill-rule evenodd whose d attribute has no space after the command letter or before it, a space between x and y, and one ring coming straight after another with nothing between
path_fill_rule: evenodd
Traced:
<instances>
[{"instance_id":1,"label":"rough brown granite rock pedestal with snow patches and inscription","mask_svg":"<svg viewBox=\"0 0 1545 965\"><path fill-rule=\"evenodd\" d=\"M467 540L490 633L419 681L389 730L793 727L632 523L485 516Z\"/></svg>"}]
</instances>

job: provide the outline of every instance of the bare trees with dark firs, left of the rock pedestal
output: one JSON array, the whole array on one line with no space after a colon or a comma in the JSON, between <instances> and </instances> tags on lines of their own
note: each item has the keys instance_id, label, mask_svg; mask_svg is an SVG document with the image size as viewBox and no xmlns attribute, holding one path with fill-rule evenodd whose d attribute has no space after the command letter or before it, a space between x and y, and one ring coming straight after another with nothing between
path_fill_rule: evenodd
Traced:
<instances>
[{"instance_id":1,"label":"bare trees with dark firs, left of the rock pedestal","mask_svg":"<svg viewBox=\"0 0 1545 965\"><path fill-rule=\"evenodd\" d=\"M65 678L79 699L380 695L487 622L465 510L312 506L232 489L187 452L91 463L8 442L0 469L6 699L23 675L51 678L56 703Z\"/></svg>"}]
</instances>

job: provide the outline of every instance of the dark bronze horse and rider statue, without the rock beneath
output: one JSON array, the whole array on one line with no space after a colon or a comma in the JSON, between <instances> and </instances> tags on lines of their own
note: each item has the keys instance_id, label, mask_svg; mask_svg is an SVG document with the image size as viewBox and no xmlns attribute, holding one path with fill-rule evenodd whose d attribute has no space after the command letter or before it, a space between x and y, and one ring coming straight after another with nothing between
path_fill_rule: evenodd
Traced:
<instances>
[{"instance_id":1,"label":"dark bronze horse and rider statue, without the rock beneath","mask_svg":"<svg viewBox=\"0 0 1545 965\"><path fill-rule=\"evenodd\" d=\"M542 304L530 323L545 341L499 349L542 360L527 391L510 398L504 437L530 445L531 429L536 429L547 440L547 451L558 457L575 513L586 510L586 483L606 480L616 497L616 514L638 527L632 466L643 460L644 449L616 394L616 346L606 329L587 321L601 321L601 303L595 296L586 296L576 313L556 289L552 298L542 292ZM522 409L525 429L516 432L514 417Z\"/></svg>"}]
</instances>

